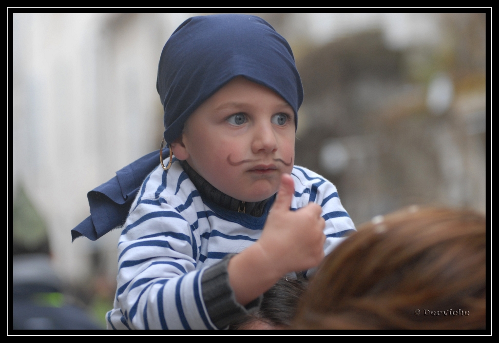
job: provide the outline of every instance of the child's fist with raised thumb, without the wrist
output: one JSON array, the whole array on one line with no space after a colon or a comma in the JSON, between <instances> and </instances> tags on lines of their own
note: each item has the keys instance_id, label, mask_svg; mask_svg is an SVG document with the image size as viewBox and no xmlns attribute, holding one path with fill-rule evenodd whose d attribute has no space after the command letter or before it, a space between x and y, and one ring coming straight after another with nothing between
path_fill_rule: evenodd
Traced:
<instances>
[{"instance_id":1,"label":"child's fist with raised thumb, without the wrist","mask_svg":"<svg viewBox=\"0 0 499 343\"><path fill-rule=\"evenodd\" d=\"M325 221L322 208L314 203L291 211L294 183L283 174L277 198L270 209L258 244L282 276L317 266L324 257Z\"/></svg>"}]
</instances>

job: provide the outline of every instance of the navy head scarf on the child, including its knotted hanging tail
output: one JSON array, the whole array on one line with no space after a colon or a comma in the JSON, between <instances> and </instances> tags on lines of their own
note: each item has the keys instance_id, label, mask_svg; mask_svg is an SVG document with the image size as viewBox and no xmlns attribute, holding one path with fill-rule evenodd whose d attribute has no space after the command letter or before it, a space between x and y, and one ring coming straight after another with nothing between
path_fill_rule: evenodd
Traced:
<instances>
[{"instance_id":1,"label":"navy head scarf on the child, including its knotted hanging tail","mask_svg":"<svg viewBox=\"0 0 499 343\"><path fill-rule=\"evenodd\" d=\"M177 139L189 115L230 80L244 76L279 94L295 123L303 88L287 41L265 20L245 14L195 16L184 21L163 48L156 88L164 109L164 138ZM168 149L163 155L168 156ZM90 216L71 230L74 240L96 240L125 223L145 177L158 166L159 150L116 172L88 192Z\"/></svg>"}]
</instances>

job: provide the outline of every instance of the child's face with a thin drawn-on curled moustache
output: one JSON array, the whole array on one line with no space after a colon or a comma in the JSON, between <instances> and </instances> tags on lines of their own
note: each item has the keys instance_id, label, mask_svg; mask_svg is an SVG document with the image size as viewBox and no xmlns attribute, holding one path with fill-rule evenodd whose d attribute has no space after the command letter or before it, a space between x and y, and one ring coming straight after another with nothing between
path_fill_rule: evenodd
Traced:
<instances>
[{"instance_id":1,"label":"child's face with a thin drawn-on curled moustache","mask_svg":"<svg viewBox=\"0 0 499 343\"><path fill-rule=\"evenodd\" d=\"M267 87L237 77L191 114L175 156L233 198L275 194L294 164L294 112Z\"/></svg>"}]
</instances>

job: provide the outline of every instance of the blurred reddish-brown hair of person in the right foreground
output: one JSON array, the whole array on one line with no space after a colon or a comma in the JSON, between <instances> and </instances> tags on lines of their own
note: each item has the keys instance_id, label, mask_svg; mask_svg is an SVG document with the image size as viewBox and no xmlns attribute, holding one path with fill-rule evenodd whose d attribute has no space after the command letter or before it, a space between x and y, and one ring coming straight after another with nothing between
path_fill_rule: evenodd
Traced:
<instances>
[{"instance_id":1,"label":"blurred reddish-brown hair of person in the right foreground","mask_svg":"<svg viewBox=\"0 0 499 343\"><path fill-rule=\"evenodd\" d=\"M466 210L375 217L323 261L295 327L485 329L485 227Z\"/></svg>"}]
</instances>

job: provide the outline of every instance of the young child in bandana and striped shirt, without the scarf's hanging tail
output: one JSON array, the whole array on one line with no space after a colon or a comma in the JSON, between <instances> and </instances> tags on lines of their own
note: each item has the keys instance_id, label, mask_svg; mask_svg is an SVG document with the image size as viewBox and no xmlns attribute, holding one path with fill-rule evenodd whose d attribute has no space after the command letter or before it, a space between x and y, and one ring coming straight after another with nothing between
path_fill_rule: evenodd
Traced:
<instances>
[{"instance_id":1,"label":"young child in bandana and striped shirt, without the scarf's hanging tail","mask_svg":"<svg viewBox=\"0 0 499 343\"><path fill-rule=\"evenodd\" d=\"M330 182L294 166L303 90L263 19L187 19L157 89L170 159L123 226L108 328L224 329L282 276L306 278L354 225Z\"/></svg>"}]
</instances>

